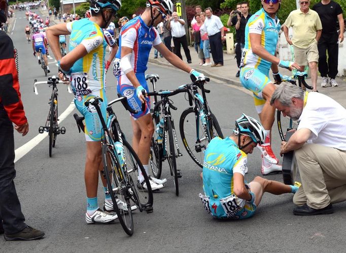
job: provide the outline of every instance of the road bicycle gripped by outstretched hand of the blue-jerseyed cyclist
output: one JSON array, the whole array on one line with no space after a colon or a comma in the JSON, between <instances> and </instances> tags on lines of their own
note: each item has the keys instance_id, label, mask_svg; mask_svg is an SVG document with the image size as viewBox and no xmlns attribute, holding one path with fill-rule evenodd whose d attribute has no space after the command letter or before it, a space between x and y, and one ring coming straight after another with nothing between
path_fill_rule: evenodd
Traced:
<instances>
[{"instance_id":1,"label":"road bicycle gripped by outstretched hand of the blue-jerseyed cyclist","mask_svg":"<svg viewBox=\"0 0 346 253\"><path fill-rule=\"evenodd\" d=\"M206 101L205 93L210 93L210 90L204 88L206 81L209 78L180 86L188 90L190 104L180 116L180 136L186 151L200 168L203 168L204 150L209 142L217 136L223 139L219 122Z\"/></svg>"}]
</instances>

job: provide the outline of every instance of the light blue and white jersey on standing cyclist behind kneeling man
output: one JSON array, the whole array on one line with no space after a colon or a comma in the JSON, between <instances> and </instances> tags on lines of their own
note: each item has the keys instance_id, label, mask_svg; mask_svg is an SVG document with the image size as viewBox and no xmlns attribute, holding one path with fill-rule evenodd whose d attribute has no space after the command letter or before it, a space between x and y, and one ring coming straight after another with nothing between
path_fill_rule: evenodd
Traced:
<instances>
[{"instance_id":1,"label":"light blue and white jersey on standing cyclist behind kneeling man","mask_svg":"<svg viewBox=\"0 0 346 253\"><path fill-rule=\"evenodd\" d=\"M245 27L245 47L242 53L241 67L259 69L263 74L269 74L271 62L252 52L250 34L261 35L261 45L274 55L279 40L280 27L280 20L277 17L271 18L263 8L250 17Z\"/></svg>"}]
</instances>

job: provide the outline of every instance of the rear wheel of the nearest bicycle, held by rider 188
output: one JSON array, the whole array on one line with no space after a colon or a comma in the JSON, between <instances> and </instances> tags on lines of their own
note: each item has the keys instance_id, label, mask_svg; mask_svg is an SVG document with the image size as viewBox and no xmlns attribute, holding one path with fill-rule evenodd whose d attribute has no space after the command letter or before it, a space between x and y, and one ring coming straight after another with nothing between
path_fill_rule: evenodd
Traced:
<instances>
[{"instance_id":1,"label":"rear wheel of the nearest bicycle, held by rider 188","mask_svg":"<svg viewBox=\"0 0 346 253\"><path fill-rule=\"evenodd\" d=\"M153 206L154 198L153 192L151 189L149 177L146 170L144 169L141 160L138 155L134 152L131 145L123 138L123 146L125 153L125 163L127 168L128 179L131 182L131 188L134 193L134 196L131 198L134 204L139 207L140 211L146 210ZM148 189L139 188L137 185L138 181L138 167L140 168L144 181L148 185Z\"/></svg>"}]
</instances>

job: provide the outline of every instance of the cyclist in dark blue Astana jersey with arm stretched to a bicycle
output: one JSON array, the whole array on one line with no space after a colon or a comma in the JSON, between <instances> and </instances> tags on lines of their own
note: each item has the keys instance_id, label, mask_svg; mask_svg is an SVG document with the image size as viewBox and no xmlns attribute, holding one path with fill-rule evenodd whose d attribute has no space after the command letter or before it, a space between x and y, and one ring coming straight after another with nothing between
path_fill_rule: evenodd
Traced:
<instances>
[{"instance_id":1,"label":"cyclist in dark blue Astana jersey with arm stretched to a bicycle","mask_svg":"<svg viewBox=\"0 0 346 253\"><path fill-rule=\"evenodd\" d=\"M155 27L163 21L166 15L171 15L172 11L171 0L149 0L143 14L131 19L122 27L119 36L119 50L113 68L115 75L118 76L118 92L127 97L127 102L133 109L139 111L137 114L131 114L132 147L138 154L148 175L154 124L150 115L150 100L144 98L142 90L149 92L145 71L147 70L150 50L154 46L172 65L190 73L191 79L204 78L203 74L191 69L161 42ZM146 103L143 112L141 111L142 103ZM147 187L143 176L142 178L141 175L139 176L139 181L141 183L139 187ZM166 179L150 179L153 190L162 188L164 182Z\"/></svg>"}]
</instances>

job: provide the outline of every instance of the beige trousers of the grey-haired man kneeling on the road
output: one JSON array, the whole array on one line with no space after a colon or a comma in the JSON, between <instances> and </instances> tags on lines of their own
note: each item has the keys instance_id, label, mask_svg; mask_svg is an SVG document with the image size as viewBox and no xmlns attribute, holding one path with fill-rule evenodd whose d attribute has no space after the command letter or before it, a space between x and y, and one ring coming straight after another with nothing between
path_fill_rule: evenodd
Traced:
<instances>
[{"instance_id":1,"label":"beige trousers of the grey-haired man kneeling on the road","mask_svg":"<svg viewBox=\"0 0 346 253\"><path fill-rule=\"evenodd\" d=\"M318 144L304 144L295 151L301 187L294 204L321 209L346 200L346 151Z\"/></svg>"}]
</instances>

